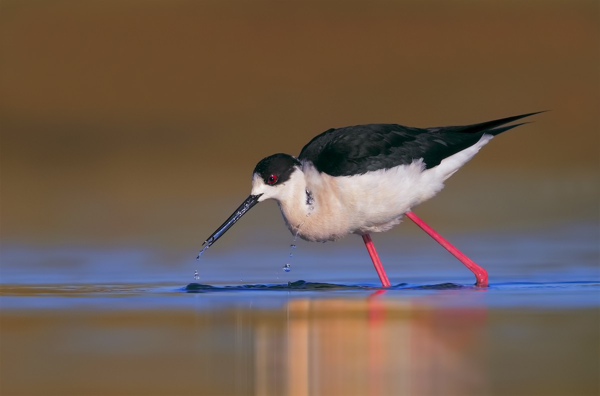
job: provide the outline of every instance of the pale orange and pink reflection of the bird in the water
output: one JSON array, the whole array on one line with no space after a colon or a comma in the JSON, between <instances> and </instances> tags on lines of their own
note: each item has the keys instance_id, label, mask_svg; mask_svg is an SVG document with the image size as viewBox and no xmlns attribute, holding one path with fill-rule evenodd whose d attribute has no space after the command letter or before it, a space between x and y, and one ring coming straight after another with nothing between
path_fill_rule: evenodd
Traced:
<instances>
[{"instance_id":1,"label":"pale orange and pink reflection of the bird in the water","mask_svg":"<svg viewBox=\"0 0 600 396\"><path fill-rule=\"evenodd\" d=\"M284 322L258 323L255 393L485 393L484 308L392 301L381 292L293 299Z\"/></svg>"}]
</instances>

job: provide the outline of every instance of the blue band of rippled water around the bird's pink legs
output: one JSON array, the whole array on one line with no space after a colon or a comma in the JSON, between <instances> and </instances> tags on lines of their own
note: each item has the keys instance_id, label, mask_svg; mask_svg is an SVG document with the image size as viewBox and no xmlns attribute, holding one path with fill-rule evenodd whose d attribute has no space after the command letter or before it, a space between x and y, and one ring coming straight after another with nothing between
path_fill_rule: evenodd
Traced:
<instances>
[{"instance_id":1,"label":"blue band of rippled water around the bird's pink legs","mask_svg":"<svg viewBox=\"0 0 600 396\"><path fill-rule=\"evenodd\" d=\"M488 270L486 288L472 286L472 274L429 239L403 238L398 247L398 236L386 233L378 248L395 284L382 297L433 296L439 298L433 302L438 305L598 306L598 233L597 224L586 223L537 232L459 235L456 244ZM214 250L217 253L207 256L200 267L193 250L3 245L0 299L3 309L61 304L115 308L116 299L118 304L140 308L235 305L248 299L272 306L296 295L362 298L383 290L364 246L350 242L328 244L326 249L322 244L298 245L290 274L278 271L289 254L287 244L268 251L255 246ZM196 268L199 281L193 277Z\"/></svg>"}]
</instances>

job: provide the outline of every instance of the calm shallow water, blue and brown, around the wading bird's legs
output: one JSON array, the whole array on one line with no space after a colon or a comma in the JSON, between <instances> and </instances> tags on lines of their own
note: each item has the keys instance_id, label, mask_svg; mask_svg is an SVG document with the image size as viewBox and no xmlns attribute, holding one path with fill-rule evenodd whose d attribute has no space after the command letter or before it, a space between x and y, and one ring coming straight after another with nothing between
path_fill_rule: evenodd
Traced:
<instances>
[{"instance_id":1,"label":"calm shallow water, blue and brown, around the wading bird's legs","mask_svg":"<svg viewBox=\"0 0 600 396\"><path fill-rule=\"evenodd\" d=\"M485 288L412 238L401 253L377 238L395 257L384 260L387 289L350 248L358 239L298 242L289 273L278 271L289 244L215 248L206 263L193 253L178 262L164 251L4 248L0 391L598 394L595 224L458 235L490 272Z\"/></svg>"}]
</instances>

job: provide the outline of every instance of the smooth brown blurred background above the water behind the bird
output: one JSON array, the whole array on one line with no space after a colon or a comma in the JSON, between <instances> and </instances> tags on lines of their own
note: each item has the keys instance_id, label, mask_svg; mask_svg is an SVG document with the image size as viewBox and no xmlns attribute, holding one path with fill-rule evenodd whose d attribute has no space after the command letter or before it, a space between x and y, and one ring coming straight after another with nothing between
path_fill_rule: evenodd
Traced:
<instances>
[{"instance_id":1,"label":"smooth brown blurred background above the water behind the bird","mask_svg":"<svg viewBox=\"0 0 600 396\"><path fill-rule=\"evenodd\" d=\"M2 243L196 248L247 196L260 158L297 155L328 128L549 109L420 213L469 229L598 221L599 11L2 0ZM259 206L245 227L264 215L283 232L275 205Z\"/></svg>"}]
</instances>

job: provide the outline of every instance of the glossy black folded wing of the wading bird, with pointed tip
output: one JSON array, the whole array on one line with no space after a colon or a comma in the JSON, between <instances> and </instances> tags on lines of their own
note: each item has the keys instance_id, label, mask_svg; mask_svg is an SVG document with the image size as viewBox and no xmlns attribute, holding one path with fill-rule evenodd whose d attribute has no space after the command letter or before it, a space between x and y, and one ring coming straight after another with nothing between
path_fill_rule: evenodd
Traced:
<instances>
[{"instance_id":1,"label":"glossy black folded wing of the wading bird, with pointed tip","mask_svg":"<svg viewBox=\"0 0 600 396\"><path fill-rule=\"evenodd\" d=\"M320 172L350 176L410 164L423 158L431 168L446 157L478 142L486 134L497 135L517 127L500 125L537 113L458 127L412 128L398 124L368 124L330 129L314 137L298 159L311 161ZM498 128L500 127L500 128Z\"/></svg>"}]
</instances>

